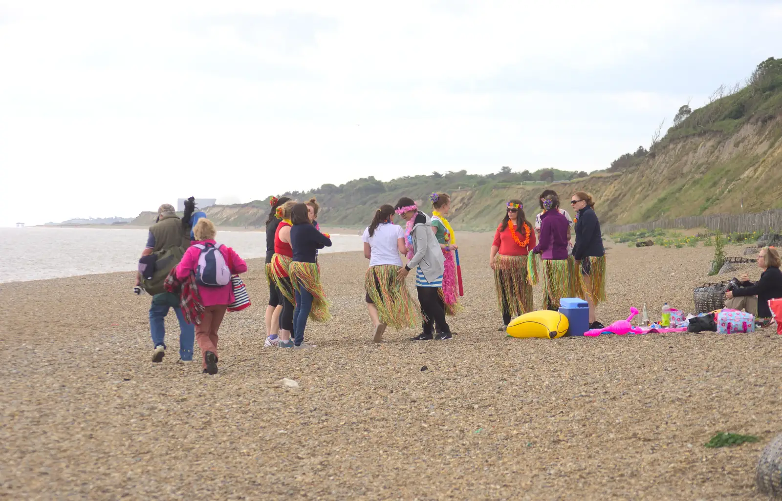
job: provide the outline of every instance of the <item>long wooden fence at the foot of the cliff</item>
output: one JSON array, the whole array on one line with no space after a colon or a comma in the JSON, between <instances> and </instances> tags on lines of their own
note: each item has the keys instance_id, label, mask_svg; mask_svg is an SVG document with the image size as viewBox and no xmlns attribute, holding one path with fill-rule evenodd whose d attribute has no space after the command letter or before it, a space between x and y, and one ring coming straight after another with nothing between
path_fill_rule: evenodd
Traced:
<instances>
[{"instance_id":1,"label":"long wooden fence at the foot of the cliff","mask_svg":"<svg viewBox=\"0 0 782 501\"><path fill-rule=\"evenodd\" d=\"M762 213L752 214L714 214L713 216L689 216L677 217L676 219L662 219L649 221L647 223L634 224L601 224L603 234L624 233L626 231L654 230L662 228L671 229L690 229L690 228L708 228L710 230L719 230L723 233L732 233L734 231L747 232L757 231L766 233L771 231L782 233L782 209L766 210Z\"/></svg>"}]
</instances>

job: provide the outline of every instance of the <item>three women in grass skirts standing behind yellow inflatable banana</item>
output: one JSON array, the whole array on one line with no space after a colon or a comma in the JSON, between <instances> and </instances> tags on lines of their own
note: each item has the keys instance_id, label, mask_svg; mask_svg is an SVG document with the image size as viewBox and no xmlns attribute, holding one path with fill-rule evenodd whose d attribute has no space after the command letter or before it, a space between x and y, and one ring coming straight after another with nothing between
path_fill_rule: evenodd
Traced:
<instances>
[{"instance_id":1,"label":"three women in grass skirts standing behind yellow inflatable banana","mask_svg":"<svg viewBox=\"0 0 782 501\"><path fill-rule=\"evenodd\" d=\"M533 285L543 281L543 310L558 310L565 297L589 303L590 328L602 328L595 306L605 300L605 249L594 200L576 191L570 200L576 218L560 206L554 190L540 194L535 225L526 219L521 200L510 200L494 233L489 265L494 270L497 306L504 331L513 316L533 311ZM573 230L576 243L571 243ZM536 256L540 256L540 267Z\"/></svg>"}]
</instances>

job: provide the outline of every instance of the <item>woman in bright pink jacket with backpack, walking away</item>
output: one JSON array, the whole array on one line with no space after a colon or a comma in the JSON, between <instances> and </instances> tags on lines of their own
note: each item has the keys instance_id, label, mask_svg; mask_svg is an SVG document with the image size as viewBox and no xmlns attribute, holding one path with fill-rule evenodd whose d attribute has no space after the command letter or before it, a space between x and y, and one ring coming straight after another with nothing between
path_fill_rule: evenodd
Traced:
<instances>
[{"instance_id":1,"label":"woman in bright pink jacket with backpack, walking away","mask_svg":"<svg viewBox=\"0 0 782 501\"><path fill-rule=\"evenodd\" d=\"M217 230L212 221L201 218L193 227L195 242L177 265L177 278L195 274L203 305L201 323L195 326L195 339L201 349L203 371L217 374L217 331L228 305L234 302L231 275L247 271L247 263L234 249L215 242Z\"/></svg>"}]
</instances>

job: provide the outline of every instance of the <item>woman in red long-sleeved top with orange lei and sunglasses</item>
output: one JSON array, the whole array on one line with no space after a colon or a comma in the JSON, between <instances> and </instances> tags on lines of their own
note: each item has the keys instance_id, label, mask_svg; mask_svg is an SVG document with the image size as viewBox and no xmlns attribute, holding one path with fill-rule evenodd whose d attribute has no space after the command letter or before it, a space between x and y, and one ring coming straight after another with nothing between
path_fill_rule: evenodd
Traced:
<instances>
[{"instance_id":1,"label":"woman in red long-sleeved top with orange lei and sunglasses","mask_svg":"<svg viewBox=\"0 0 782 501\"><path fill-rule=\"evenodd\" d=\"M505 217L494 233L489 264L494 270L497 306L502 311L504 331L511 316L533 310L533 287L527 280L527 256L535 248L535 231L526 220L521 200L506 204Z\"/></svg>"}]
</instances>

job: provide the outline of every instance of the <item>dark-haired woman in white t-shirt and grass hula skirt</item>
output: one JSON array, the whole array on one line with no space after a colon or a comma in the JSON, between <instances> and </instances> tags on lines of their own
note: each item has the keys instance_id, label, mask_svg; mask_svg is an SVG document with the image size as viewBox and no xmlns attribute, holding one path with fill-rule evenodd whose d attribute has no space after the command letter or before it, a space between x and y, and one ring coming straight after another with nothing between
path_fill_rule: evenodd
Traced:
<instances>
[{"instance_id":1,"label":"dark-haired woman in white t-shirt and grass hula skirt","mask_svg":"<svg viewBox=\"0 0 782 501\"><path fill-rule=\"evenodd\" d=\"M393 206L381 206L361 238L364 257L369 259L364 288L367 310L375 327L375 342L381 341L388 325L401 329L415 327L420 321L418 305L407 292L404 281L396 277L402 267L400 252L406 253L407 248L404 230L393 224L393 214Z\"/></svg>"}]
</instances>

